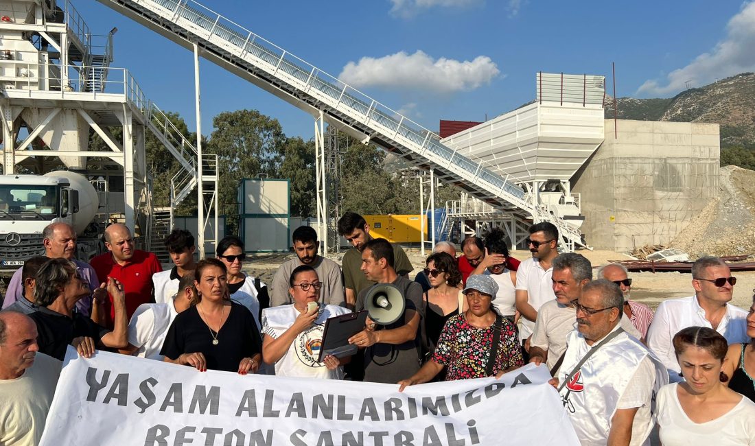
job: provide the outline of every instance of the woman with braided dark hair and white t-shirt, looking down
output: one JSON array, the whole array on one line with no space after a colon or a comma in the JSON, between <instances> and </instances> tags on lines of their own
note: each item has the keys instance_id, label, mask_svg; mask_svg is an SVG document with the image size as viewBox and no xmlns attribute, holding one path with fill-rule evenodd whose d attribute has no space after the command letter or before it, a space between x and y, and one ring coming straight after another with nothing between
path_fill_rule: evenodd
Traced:
<instances>
[{"instance_id":1,"label":"woman with braided dark hair and white t-shirt, looking down","mask_svg":"<svg viewBox=\"0 0 755 446\"><path fill-rule=\"evenodd\" d=\"M673 349L684 381L658 391L661 443L755 444L755 404L723 383L726 339L712 328L689 327L673 337Z\"/></svg>"}]
</instances>

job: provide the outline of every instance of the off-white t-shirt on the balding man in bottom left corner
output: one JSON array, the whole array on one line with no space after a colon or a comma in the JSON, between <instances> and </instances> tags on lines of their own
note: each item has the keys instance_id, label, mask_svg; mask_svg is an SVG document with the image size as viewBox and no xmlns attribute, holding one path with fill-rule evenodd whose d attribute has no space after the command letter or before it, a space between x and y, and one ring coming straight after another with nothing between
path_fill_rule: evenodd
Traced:
<instances>
[{"instance_id":1,"label":"off-white t-shirt on the balding man in bottom left corner","mask_svg":"<svg viewBox=\"0 0 755 446\"><path fill-rule=\"evenodd\" d=\"M0 444L39 444L62 362L37 352L15 380L0 380Z\"/></svg>"}]
</instances>

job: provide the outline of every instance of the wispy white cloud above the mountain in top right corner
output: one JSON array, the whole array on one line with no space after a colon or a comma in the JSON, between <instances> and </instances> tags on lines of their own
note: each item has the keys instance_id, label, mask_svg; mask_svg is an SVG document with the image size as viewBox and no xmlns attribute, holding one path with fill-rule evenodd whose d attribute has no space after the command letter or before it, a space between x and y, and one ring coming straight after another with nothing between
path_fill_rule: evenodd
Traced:
<instances>
[{"instance_id":1,"label":"wispy white cloud above the mountain in top right corner","mask_svg":"<svg viewBox=\"0 0 755 446\"><path fill-rule=\"evenodd\" d=\"M666 85L649 79L638 94L669 94L713 82L745 71L755 71L755 2L745 4L726 25L727 35L712 51L700 54L689 65L667 75Z\"/></svg>"}]
</instances>

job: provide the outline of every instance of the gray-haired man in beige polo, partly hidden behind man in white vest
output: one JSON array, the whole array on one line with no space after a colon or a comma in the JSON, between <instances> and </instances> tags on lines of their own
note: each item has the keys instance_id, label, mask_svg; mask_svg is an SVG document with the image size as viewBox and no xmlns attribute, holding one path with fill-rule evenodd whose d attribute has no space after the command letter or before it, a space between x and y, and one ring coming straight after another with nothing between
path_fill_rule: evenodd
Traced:
<instances>
[{"instance_id":1,"label":"gray-haired man in beige polo, partly hidden behind man in white vest","mask_svg":"<svg viewBox=\"0 0 755 446\"><path fill-rule=\"evenodd\" d=\"M545 362L553 376L566 351L566 338L574 331L575 303L592 279L593 266L581 254L561 254L553 259L551 280L556 300L540 307L529 347L529 361L538 365ZM627 318L621 318L621 328L639 338L639 331Z\"/></svg>"}]
</instances>

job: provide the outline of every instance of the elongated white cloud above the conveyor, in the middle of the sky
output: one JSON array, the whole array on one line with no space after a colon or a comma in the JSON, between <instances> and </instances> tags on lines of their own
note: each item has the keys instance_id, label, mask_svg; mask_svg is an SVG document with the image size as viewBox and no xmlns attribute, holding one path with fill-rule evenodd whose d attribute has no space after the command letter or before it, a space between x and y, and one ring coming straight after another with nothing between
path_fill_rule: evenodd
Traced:
<instances>
[{"instance_id":1,"label":"elongated white cloud above the conveyor, in the middle of the sky","mask_svg":"<svg viewBox=\"0 0 755 446\"><path fill-rule=\"evenodd\" d=\"M400 51L384 57L362 57L350 62L338 75L341 81L356 88L401 88L435 93L470 91L489 84L501 72L490 57L474 60L433 60L422 51Z\"/></svg>"}]
</instances>

